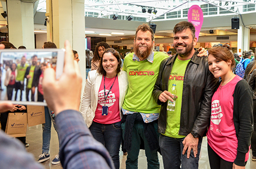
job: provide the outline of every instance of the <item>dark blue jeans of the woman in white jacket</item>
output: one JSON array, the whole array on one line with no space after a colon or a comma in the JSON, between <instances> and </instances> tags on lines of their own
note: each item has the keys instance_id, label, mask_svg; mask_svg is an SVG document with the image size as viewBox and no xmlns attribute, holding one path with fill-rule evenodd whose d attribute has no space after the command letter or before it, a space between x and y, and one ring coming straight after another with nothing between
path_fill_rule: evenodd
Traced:
<instances>
[{"instance_id":1,"label":"dark blue jeans of the woman in white jacket","mask_svg":"<svg viewBox=\"0 0 256 169\"><path fill-rule=\"evenodd\" d=\"M100 124L93 122L89 129L93 137L109 151L115 168L119 169L119 150L122 139L121 122L113 124Z\"/></svg>"}]
</instances>

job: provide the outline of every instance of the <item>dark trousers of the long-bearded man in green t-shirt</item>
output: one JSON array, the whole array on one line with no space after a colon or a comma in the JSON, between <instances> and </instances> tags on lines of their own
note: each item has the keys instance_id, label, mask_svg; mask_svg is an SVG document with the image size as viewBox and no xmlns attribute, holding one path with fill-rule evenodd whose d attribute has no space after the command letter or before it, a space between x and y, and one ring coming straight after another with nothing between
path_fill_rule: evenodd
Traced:
<instances>
[{"instance_id":1,"label":"dark trousers of the long-bearded man in green t-shirt","mask_svg":"<svg viewBox=\"0 0 256 169\"><path fill-rule=\"evenodd\" d=\"M158 125L156 122L154 123L155 131L157 132ZM124 136L125 123L122 123L122 130ZM158 134L157 134L158 135ZM151 150L150 145L148 145L147 139L144 133L144 124L143 122L136 122L133 126L132 133L132 149L131 151L127 151L127 160L125 161L126 169L135 169L138 168L138 156L140 152L141 141L144 144L146 159L147 159L147 168L148 169L157 169L160 167L157 150ZM124 140L125 142L125 140Z\"/></svg>"}]
</instances>

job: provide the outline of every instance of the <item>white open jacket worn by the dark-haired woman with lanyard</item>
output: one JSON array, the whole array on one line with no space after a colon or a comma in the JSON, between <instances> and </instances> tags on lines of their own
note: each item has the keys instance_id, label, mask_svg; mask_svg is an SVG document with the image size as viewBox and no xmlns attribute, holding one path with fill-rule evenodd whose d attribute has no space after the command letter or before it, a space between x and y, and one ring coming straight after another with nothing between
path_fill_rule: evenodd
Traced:
<instances>
[{"instance_id":1,"label":"white open jacket worn by the dark-haired woman with lanyard","mask_svg":"<svg viewBox=\"0 0 256 169\"><path fill-rule=\"evenodd\" d=\"M120 118L122 118L121 107L123 105L124 96L126 95L128 88L127 73L122 71L118 73L118 84L119 84L119 110ZM98 105L98 93L101 85L102 74L99 74L97 70L90 71L84 87L84 92L81 101L80 112L86 121L87 127L92 125L95 117L95 111Z\"/></svg>"}]
</instances>

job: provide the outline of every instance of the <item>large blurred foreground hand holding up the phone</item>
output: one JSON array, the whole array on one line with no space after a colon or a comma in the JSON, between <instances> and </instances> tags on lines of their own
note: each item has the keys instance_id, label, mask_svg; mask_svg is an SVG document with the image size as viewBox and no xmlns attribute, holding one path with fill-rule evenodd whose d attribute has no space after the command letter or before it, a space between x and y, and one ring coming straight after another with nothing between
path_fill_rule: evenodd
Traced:
<instances>
[{"instance_id":1,"label":"large blurred foreground hand holding up the phone","mask_svg":"<svg viewBox=\"0 0 256 169\"><path fill-rule=\"evenodd\" d=\"M47 68L44 72L42 88L47 105L57 115L67 109L79 110L82 77L69 41L65 41L65 63L59 79L55 71Z\"/></svg>"}]
</instances>

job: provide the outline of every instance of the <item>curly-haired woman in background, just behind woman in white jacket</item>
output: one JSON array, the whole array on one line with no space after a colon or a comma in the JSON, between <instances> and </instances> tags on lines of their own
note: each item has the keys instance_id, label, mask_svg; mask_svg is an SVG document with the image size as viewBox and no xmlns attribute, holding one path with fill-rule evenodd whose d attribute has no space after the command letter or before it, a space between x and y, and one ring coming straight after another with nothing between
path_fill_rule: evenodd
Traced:
<instances>
[{"instance_id":1,"label":"curly-haired woman in background, just behind woman in white jacket","mask_svg":"<svg viewBox=\"0 0 256 169\"><path fill-rule=\"evenodd\" d=\"M100 58L105 49L110 48L110 45L106 42L99 42L94 50L94 57L91 63L91 70L97 70L99 67Z\"/></svg>"}]
</instances>

